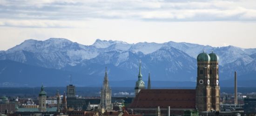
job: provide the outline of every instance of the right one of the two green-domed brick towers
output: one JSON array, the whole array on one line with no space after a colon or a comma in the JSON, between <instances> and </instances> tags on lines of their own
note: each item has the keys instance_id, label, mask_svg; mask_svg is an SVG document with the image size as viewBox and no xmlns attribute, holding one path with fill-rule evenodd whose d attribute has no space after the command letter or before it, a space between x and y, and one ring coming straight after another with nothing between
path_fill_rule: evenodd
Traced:
<instances>
[{"instance_id":1,"label":"right one of the two green-domed brick towers","mask_svg":"<svg viewBox=\"0 0 256 116\"><path fill-rule=\"evenodd\" d=\"M219 86L219 57L210 53L210 86L211 86L211 105L212 109L220 111L220 86Z\"/></svg>"}]
</instances>

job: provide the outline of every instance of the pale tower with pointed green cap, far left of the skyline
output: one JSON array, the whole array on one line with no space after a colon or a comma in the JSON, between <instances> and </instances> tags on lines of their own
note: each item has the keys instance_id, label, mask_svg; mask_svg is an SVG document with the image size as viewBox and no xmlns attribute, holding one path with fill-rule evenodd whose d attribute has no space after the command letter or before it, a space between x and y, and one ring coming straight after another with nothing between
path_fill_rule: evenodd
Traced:
<instances>
[{"instance_id":1,"label":"pale tower with pointed green cap, far left of the skyline","mask_svg":"<svg viewBox=\"0 0 256 116\"><path fill-rule=\"evenodd\" d=\"M46 112L46 92L44 91L44 86L41 86L41 91L39 93L39 112Z\"/></svg>"}]
</instances>

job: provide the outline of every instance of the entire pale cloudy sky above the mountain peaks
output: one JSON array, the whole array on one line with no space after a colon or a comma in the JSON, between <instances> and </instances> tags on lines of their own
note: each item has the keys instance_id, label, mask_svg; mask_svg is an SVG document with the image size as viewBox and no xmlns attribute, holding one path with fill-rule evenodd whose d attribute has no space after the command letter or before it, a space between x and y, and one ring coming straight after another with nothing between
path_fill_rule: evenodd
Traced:
<instances>
[{"instance_id":1,"label":"entire pale cloudy sky above the mountain peaks","mask_svg":"<svg viewBox=\"0 0 256 116\"><path fill-rule=\"evenodd\" d=\"M256 48L256 0L0 0L0 50L49 38Z\"/></svg>"}]
</instances>

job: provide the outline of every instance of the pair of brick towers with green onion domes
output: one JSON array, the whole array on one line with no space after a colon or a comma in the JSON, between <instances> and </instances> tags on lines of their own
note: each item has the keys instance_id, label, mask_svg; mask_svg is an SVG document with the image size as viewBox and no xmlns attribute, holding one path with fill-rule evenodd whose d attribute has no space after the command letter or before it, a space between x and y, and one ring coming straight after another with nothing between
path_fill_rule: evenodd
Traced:
<instances>
[{"instance_id":1,"label":"pair of brick towers with green onion domes","mask_svg":"<svg viewBox=\"0 0 256 116\"><path fill-rule=\"evenodd\" d=\"M213 52L197 56L195 96L199 111L220 111L219 57Z\"/></svg>"}]
</instances>

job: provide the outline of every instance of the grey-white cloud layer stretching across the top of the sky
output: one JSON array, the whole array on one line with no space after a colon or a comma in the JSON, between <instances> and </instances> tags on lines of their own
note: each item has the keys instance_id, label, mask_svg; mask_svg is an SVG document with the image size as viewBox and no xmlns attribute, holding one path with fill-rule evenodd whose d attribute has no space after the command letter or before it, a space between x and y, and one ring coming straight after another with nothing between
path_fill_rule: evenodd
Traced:
<instances>
[{"instance_id":1,"label":"grey-white cloud layer stretching across the top of the sky","mask_svg":"<svg viewBox=\"0 0 256 116\"><path fill-rule=\"evenodd\" d=\"M5 19L5 21L0 22L1 26L20 27L70 27L65 21L91 19L256 21L256 1L1 0L0 16L0 19ZM26 22L24 20L32 21Z\"/></svg>"}]
</instances>

